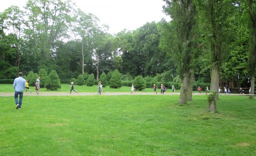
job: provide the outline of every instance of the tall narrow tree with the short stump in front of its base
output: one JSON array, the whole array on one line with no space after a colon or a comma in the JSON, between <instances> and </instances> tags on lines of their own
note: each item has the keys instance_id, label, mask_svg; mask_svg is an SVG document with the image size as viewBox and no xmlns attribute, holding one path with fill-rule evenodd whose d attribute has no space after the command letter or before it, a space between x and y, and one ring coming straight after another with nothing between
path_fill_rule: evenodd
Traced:
<instances>
[{"instance_id":1,"label":"tall narrow tree with the short stump in front of its base","mask_svg":"<svg viewBox=\"0 0 256 156\"><path fill-rule=\"evenodd\" d=\"M228 45L228 15L230 13L230 0L195 0L197 12L200 13L200 23L205 31L206 44L209 46L211 63L210 92L216 93L218 99L220 69L223 63L223 55ZM212 103L211 103L212 104ZM215 111L216 105L209 104L208 110Z\"/></svg>"}]
</instances>

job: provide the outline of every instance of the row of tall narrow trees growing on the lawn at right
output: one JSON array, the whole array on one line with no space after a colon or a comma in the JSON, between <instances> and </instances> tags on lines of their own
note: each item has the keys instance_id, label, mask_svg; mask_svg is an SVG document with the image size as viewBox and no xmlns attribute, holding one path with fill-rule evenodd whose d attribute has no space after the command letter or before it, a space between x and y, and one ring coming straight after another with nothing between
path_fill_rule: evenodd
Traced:
<instances>
[{"instance_id":1,"label":"row of tall narrow trees growing on the lawn at right","mask_svg":"<svg viewBox=\"0 0 256 156\"><path fill-rule=\"evenodd\" d=\"M245 65L254 93L254 77L256 72L256 1L255 0L164 0L165 13L173 19L166 29L166 37L174 41L165 43L177 60L178 74L182 79L180 104L191 100L194 71L197 62L206 55L210 69L210 89L214 100L218 99L220 72L225 56L232 56L230 49L245 48L247 53ZM241 34L234 35L234 32ZM239 38L246 37L246 45L239 43ZM168 41L167 39L164 39ZM248 44L249 43L249 44ZM239 45L237 45L239 44ZM234 46L235 48L232 48ZM246 46L246 47L244 47ZM242 51L244 52L244 51ZM231 59L243 59L232 56ZM228 62L233 60L228 60ZM233 63L233 62L231 62ZM223 65L224 64L224 65ZM237 67L237 65L234 65ZM230 68L228 68L230 70ZM244 71L243 71L244 72ZM250 98L254 98L251 95ZM210 102L209 111L215 111L216 103Z\"/></svg>"}]
</instances>

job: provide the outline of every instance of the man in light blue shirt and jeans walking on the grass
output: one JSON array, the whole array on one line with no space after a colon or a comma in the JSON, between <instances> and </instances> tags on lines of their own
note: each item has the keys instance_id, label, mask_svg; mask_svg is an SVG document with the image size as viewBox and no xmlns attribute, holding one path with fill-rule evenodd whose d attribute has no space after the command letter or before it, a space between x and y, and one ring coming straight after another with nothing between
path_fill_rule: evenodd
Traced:
<instances>
[{"instance_id":1,"label":"man in light blue shirt and jeans walking on the grass","mask_svg":"<svg viewBox=\"0 0 256 156\"><path fill-rule=\"evenodd\" d=\"M16 109L20 109L22 105L23 89L26 88L26 80L22 78L23 73L19 73L19 77L15 78L13 82L13 88L15 89L14 100L16 104ZM18 95L20 95L20 101L18 101Z\"/></svg>"}]
</instances>

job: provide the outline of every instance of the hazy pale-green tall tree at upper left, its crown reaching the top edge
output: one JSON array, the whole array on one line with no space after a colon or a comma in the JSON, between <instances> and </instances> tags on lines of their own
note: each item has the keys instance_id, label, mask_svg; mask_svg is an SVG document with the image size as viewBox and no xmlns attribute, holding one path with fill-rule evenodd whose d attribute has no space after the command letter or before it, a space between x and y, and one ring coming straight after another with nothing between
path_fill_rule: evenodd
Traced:
<instances>
[{"instance_id":1,"label":"hazy pale-green tall tree at upper left, its crown reaching the top edge","mask_svg":"<svg viewBox=\"0 0 256 156\"><path fill-rule=\"evenodd\" d=\"M54 43L66 37L73 10L71 4L70 0L28 0L26 39L34 44L33 53L39 65L49 68L56 49Z\"/></svg>"}]
</instances>

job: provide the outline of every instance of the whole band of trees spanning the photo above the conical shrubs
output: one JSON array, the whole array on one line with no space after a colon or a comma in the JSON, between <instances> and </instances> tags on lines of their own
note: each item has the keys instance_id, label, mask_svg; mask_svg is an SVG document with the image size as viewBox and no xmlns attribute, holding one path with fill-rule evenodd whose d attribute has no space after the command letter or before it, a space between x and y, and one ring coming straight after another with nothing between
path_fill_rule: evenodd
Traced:
<instances>
[{"instance_id":1,"label":"whole band of trees spanning the photo above the conical shrubs","mask_svg":"<svg viewBox=\"0 0 256 156\"><path fill-rule=\"evenodd\" d=\"M254 89L256 0L164 1L170 22L115 35L70 0L11 6L0 13L0 78L40 69L55 69L61 79L93 73L98 80L115 69L133 78L160 74L159 81L182 82L181 104L192 100L193 80L217 92L221 75Z\"/></svg>"}]
</instances>

